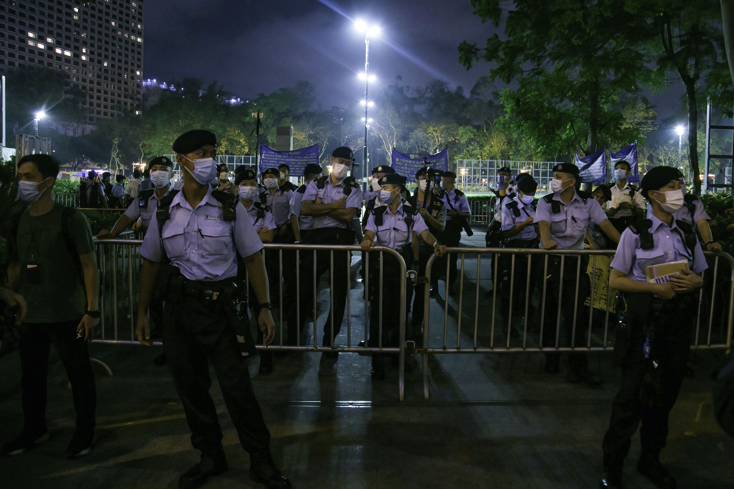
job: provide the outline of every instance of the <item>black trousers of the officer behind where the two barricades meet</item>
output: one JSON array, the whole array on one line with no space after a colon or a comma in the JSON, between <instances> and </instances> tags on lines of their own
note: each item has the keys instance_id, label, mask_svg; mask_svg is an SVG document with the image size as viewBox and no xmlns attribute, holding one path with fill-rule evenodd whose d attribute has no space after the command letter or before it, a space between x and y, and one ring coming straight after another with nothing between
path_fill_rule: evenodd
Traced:
<instances>
[{"instance_id":1,"label":"black trousers of the officer behind where the two barricades meet","mask_svg":"<svg viewBox=\"0 0 734 489\"><path fill-rule=\"evenodd\" d=\"M380 343L379 334L379 251L371 251L369 257L369 342L368 347L377 348ZM397 348L400 345L400 315L407 316L410 310L410 299L413 295L413 283L400 276L399 262L391 254L383 253L382 260L382 347ZM413 265L407 260L407 270ZM400 281L405 280L405 308L400 310Z\"/></svg>"}]
</instances>

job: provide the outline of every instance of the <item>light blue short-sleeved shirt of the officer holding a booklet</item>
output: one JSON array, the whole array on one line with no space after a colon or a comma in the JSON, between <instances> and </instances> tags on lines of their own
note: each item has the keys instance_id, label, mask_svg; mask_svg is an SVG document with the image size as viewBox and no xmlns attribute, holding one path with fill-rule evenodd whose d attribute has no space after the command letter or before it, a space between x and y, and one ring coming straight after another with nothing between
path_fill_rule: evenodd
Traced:
<instances>
[{"instance_id":1,"label":"light blue short-sleeved shirt of the officer holding a booklet","mask_svg":"<svg viewBox=\"0 0 734 489\"><path fill-rule=\"evenodd\" d=\"M694 273L701 273L708 268L701 244L697 240L693 251L688 250L683 230L677 227L675 220L672 226L668 226L655 216L650 220L653 221L653 225L649 230L653 235L655 246L652 249L642 249L639 235L627 228L622 232L617 254L614 255L614 260L611 260L611 268L625 273L638 282L647 282L644 269L650 265L688 260L688 267Z\"/></svg>"}]
</instances>

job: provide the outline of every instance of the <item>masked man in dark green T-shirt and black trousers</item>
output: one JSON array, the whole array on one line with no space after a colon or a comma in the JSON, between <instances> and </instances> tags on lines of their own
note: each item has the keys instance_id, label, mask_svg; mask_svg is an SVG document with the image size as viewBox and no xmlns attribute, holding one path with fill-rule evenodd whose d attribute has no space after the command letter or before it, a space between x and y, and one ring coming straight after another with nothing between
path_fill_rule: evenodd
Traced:
<instances>
[{"instance_id":1,"label":"masked man in dark green T-shirt and black trousers","mask_svg":"<svg viewBox=\"0 0 734 489\"><path fill-rule=\"evenodd\" d=\"M95 430L95 380L87 341L99 319L98 270L92 231L84 214L54 202L59 163L49 155L18 161L18 197L29 207L15 226L8 282L26 301L21 325L23 432L4 444L18 455L48 439L46 373L53 343L71 383L76 430L67 457L90 452Z\"/></svg>"}]
</instances>

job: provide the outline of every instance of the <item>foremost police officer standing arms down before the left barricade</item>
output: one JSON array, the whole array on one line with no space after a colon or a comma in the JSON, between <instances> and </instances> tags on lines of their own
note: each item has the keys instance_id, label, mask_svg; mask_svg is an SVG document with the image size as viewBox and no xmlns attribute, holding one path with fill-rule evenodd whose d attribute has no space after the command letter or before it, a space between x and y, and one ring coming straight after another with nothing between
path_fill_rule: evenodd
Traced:
<instances>
[{"instance_id":1,"label":"foremost police officer standing arms down before the left barricade","mask_svg":"<svg viewBox=\"0 0 734 489\"><path fill-rule=\"evenodd\" d=\"M153 289L159 289L164 350L192 430L192 445L201 451L200 463L181 476L179 487L197 488L227 469L222 429L208 392L211 362L240 442L250 452L250 477L269 488L290 488L270 455L270 433L252 392L247 357L236 339L236 253L243 257L258 296L265 344L275 336L259 253L263 245L239 199L209 185L217 174L216 136L191 130L175 140L173 150L183 169L183 189L161 199L140 248L144 260L136 334L139 342L150 345L148 306Z\"/></svg>"}]
</instances>

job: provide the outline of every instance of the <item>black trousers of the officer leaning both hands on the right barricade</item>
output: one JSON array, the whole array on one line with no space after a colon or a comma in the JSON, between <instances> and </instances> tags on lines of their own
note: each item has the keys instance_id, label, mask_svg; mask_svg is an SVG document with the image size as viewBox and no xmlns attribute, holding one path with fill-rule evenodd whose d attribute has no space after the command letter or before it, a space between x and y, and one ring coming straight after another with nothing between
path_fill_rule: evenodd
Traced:
<instances>
[{"instance_id":1,"label":"black trousers of the officer leaning both hands on the right barricade","mask_svg":"<svg viewBox=\"0 0 734 489\"><path fill-rule=\"evenodd\" d=\"M558 325L559 293L561 297L561 328L559 330L559 347L568 348L572 346L586 346L589 323L588 306L584 301L591 293L589 276L586 275L586 267L589 259L581 256L581 268L578 270L578 301L576 305L576 328L575 339L573 335L573 313L576 301L576 271L578 268L578 255L567 254L564 258L563 280L561 280L561 255L548 255L548 282L545 286L545 313L543 315L543 347L556 346L556 327ZM539 287L542 290L542 273L545 261L538 260L538 272L540 273ZM561 284L563 290L561 291ZM572 341L573 339L573 341ZM546 357L558 361L560 353L546 352ZM572 368L586 368L588 359L586 352L570 352L568 356L569 366Z\"/></svg>"}]
</instances>

